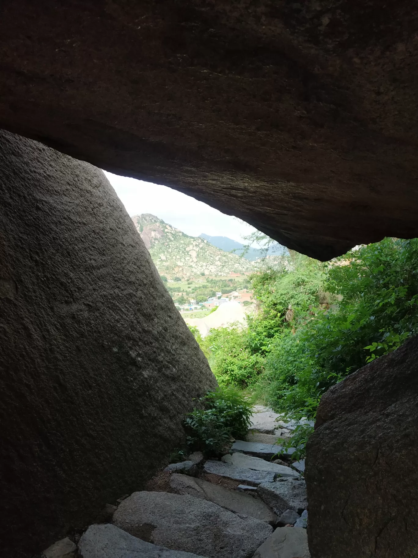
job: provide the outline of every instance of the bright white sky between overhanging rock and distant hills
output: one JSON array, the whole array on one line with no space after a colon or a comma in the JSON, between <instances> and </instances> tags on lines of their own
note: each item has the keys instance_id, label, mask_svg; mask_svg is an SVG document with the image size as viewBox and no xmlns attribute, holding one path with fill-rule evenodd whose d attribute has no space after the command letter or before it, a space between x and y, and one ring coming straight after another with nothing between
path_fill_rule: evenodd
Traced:
<instances>
[{"instance_id":1,"label":"bright white sky between overhanging rock and distant hills","mask_svg":"<svg viewBox=\"0 0 418 558\"><path fill-rule=\"evenodd\" d=\"M129 215L152 213L192 237L201 233L246 243L255 229L167 186L105 172Z\"/></svg>"}]
</instances>

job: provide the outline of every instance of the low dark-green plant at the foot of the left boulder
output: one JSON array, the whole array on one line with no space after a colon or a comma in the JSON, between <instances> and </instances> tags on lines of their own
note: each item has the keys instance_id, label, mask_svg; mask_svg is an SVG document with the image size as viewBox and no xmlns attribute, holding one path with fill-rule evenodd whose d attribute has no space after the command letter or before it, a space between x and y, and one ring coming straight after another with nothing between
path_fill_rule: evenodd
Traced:
<instances>
[{"instance_id":1,"label":"low dark-green plant at the foot of the left boulder","mask_svg":"<svg viewBox=\"0 0 418 558\"><path fill-rule=\"evenodd\" d=\"M220 454L232 438L245 436L249 429L252 405L249 396L238 389L209 391L198 400L198 407L184 421L192 450Z\"/></svg>"}]
</instances>

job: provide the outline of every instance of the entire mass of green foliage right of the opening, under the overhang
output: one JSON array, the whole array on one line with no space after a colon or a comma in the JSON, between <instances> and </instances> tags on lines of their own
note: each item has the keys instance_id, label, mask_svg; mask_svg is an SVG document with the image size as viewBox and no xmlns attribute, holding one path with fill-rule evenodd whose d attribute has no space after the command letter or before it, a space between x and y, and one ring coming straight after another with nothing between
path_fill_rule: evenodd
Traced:
<instances>
[{"instance_id":1,"label":"entire mass of green foliage right of the opening, under the overhang","mask_svg":"<svg viewBox=\"0 0 418 558\"><path fill-rule=\"evenodd\" d=\"M245 328L201 341L222 386L253 386L290 417L314 417L334 383L418 333L418 240L386 238L325 264L290 252L251 277Z\"/></svg>"}]
</instances>

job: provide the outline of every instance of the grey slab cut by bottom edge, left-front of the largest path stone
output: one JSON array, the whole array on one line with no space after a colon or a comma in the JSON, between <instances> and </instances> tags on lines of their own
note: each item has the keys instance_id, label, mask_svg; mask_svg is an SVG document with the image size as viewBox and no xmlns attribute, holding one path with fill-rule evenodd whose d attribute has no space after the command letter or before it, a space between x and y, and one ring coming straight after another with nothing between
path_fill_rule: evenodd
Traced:
<instances>
[{"instance_id":1,"label":"grey slab cut by bottom edge, left-front of the largest path stone","mask_svg":"<svg viewBox=\"0 0 418 558\"><path fill-rule=\"evenodd\" d=\"M109 523L90 525L80 538L79 550L82 558L205 558L153 545Z\"/></svg>"}]
</instances>

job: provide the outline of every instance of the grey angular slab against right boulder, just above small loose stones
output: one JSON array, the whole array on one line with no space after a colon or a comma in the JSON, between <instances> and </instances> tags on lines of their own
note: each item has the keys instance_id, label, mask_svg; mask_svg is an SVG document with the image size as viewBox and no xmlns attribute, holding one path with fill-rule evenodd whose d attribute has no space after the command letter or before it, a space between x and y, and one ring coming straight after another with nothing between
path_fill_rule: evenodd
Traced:
<instances>
[{"instance_id":1,"label":"grey angular slab against right boulder, just above small loose stones","mask_svg":"<svg viewBox=\"0 0 418 558\"><path fill-rule=\"evenodd\" d=\"M273 483L263 483L257 488L257 494L278 516L286 509L302 514L308 507L303 479L280 478Z\"/></svg>"}]
</instances>

